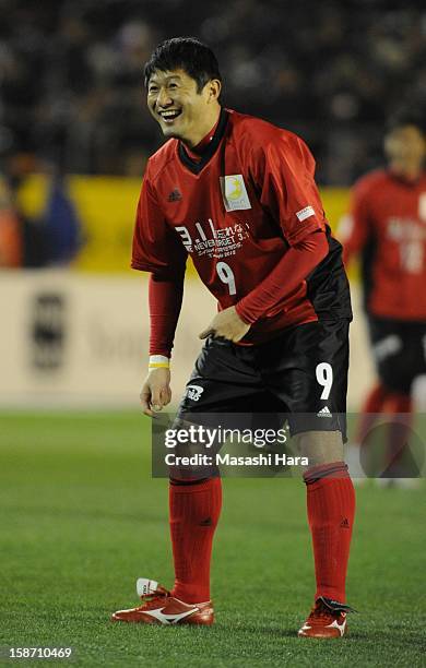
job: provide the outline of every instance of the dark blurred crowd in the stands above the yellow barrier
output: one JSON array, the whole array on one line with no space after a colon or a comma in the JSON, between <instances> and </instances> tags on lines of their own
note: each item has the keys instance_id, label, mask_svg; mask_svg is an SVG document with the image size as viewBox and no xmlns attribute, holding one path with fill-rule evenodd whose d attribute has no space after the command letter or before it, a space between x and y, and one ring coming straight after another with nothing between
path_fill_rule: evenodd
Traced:
<instances>
[{"instance_id":1,"label":"dark blurred crowd in the stands above the yellow barrier","mask_svg":"<svg viewBox=\"0 0 426 668\"><path fill-rule=\"evenodd\" d=\"M419 2L2 0L1 155L78 174L140 174L159 142L141 112L141 65L170 35L217 53L224 102L306 138L321 184L380 160L382 126L426 96Z\"/></svg>"}]
</instances>

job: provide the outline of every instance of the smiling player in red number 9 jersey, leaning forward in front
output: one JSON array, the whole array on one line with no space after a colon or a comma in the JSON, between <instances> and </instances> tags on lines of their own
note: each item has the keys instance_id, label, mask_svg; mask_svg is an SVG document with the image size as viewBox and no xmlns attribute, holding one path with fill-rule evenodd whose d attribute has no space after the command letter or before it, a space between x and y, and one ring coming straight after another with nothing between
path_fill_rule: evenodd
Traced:
<instances>
[{"instance_id":1,"label":"smiling player in red number 9 jersey, leaning forward in front","mask_svg":"<svg viewBox=\"0 0 426 668\"><path fill-rule=\"evenodd\" d=\"M147 105L169 140L149 160L132 266L151 272L146 415L170 402L169 358L188 254L218 313L178 417L287 413L305 473L317 591L301 636L346 630L345 578L355 497L343 461L352 318L341 246L295 134L221 107L216 58L170 39L145 65ZM218 476L171 472L175 585L140 578L142 605L117 621L211 624L210 560L222 505Z\"/></svg>"}]
</instances>

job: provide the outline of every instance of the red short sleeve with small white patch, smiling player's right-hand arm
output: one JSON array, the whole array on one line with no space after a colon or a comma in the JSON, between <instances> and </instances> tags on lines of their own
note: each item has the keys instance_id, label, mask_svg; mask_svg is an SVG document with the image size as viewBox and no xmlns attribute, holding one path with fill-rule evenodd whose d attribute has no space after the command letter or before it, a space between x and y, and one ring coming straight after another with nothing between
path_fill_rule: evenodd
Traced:
<instances>
[{"instance_id":1,"label":"red short sleeve with small white patch, smiling player's right-hand arm","mask_svg":"<svg viewBox=\"0 0 426 668\"><path fill-rule=\"evenodd\" d=\"M258 150L253 165L261 205L280 222L291 246L326 229L315 159L297 135L282 132Z\"/></svg>"}]
</instances>

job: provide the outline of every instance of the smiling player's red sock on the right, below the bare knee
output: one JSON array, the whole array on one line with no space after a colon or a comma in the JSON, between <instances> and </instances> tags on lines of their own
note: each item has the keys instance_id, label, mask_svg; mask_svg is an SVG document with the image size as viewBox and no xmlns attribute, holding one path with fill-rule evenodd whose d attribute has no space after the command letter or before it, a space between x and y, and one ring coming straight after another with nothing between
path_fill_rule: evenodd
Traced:
<instances>
[{"instance_id":1,"label":"smiling player's red sock on the right, below the bare knee","mask_svg":"<svg viewBox=\"0 0 426 668\"><path fill-rule=\"evenodd\" d=\"M310 468L307 485L308 521L312 534L317 592L345 603L345 582L355 515L355 491L344 462Z\"/></svg>"}]
</instances>

